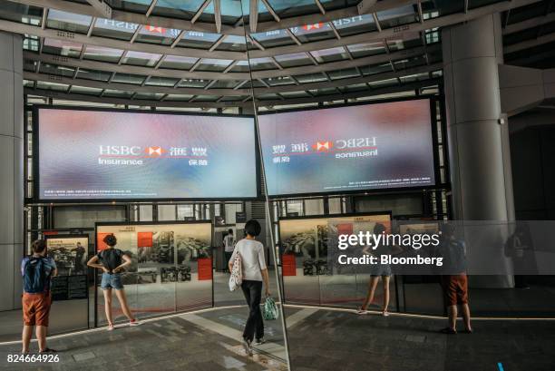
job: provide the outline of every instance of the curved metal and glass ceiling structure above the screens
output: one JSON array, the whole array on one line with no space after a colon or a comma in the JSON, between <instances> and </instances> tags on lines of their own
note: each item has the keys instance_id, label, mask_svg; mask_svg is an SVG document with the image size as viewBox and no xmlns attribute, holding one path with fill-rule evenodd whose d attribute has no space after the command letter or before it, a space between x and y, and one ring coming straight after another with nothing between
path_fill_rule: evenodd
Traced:
<instances>
[{"instance_id":1,"label":"curved metal and glass ceiling structure above the screens","mask_svg":"<svg viewBox=\"0 0 555 371\"><path fill-rule=\"evenodd\" d=\"M501 13L505 63L555 67L555 0L0 0L24 93L171 109L436 93L441 27Z\"/></svg>"}]
</instances>

